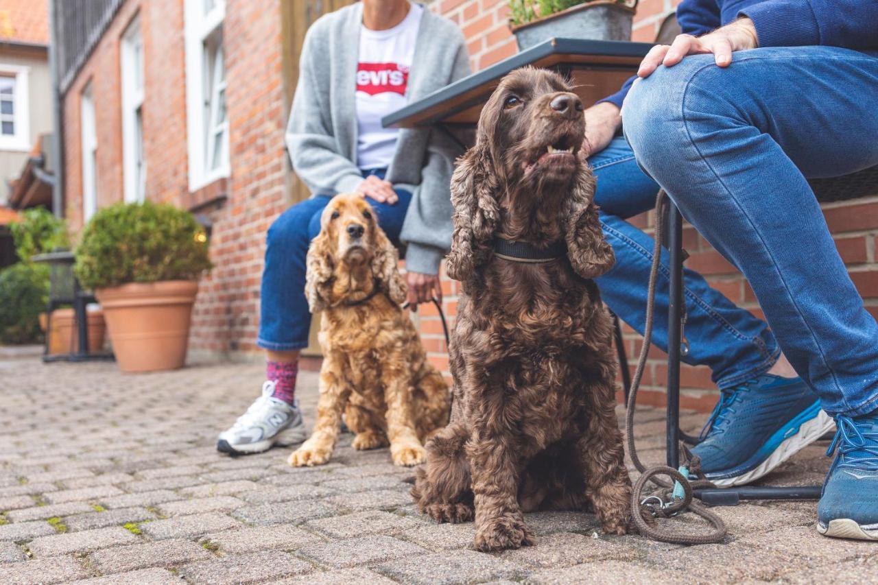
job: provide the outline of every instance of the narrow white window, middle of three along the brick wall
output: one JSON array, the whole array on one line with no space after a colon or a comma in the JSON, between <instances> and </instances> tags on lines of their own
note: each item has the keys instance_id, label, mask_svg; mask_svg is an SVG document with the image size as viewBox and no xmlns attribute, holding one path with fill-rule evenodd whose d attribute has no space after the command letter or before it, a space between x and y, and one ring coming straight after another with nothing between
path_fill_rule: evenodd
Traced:
<instances>
[{"instance_id":1,"label":"narrow white window, middle of three along the brick wall","mask_svg":"<svg viewBox=\"0 0 878 585\"><path fill-rule=\"evenodd\" d=\"M122 36L122 158L125 200L146 199L147 164L143 159L143 38L135 19Z\"/></svg>"}]
</instances>

